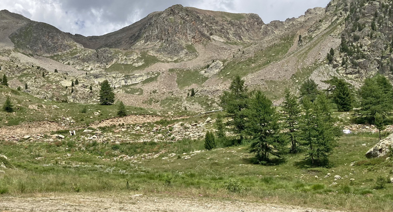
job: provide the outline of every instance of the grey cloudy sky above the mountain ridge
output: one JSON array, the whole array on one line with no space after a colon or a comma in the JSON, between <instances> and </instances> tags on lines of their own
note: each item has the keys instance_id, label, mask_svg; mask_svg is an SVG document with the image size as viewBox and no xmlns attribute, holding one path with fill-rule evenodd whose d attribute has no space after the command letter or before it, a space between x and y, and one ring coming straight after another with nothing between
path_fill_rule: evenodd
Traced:
<instances>
[{"instance_id":1,"label":"grey cloudy sky above the mountain ridge","mask_svg":"<svg viewBox=\"0 0 393 212\"><path fill-rule=\"evenodd\" d=\"M64 32L103 35L174 4L232 13L256 13L265 24L299 17L330 0L1 0L0 10L45 22Z\"/></svg>"}]
</instances>

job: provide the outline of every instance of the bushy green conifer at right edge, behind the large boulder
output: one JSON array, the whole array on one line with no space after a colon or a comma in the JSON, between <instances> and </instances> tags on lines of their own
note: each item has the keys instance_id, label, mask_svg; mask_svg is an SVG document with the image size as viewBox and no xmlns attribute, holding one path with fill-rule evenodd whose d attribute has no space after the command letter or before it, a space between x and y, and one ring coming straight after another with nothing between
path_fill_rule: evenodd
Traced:
<instances>
[{"instance_id":1,"label":"bushy green conifer at right edge, behind the large boulder","mask_svg":"<svg viewBox=\"0 0 393 212\"><path fill-rule=\"evenodd\" d=\"M360 108L356 110L358 117L364 118L370 124L375 121L375 115L379 113L383 117L392 114L393 111L393 87L382 75L365 79L365 83L359 92Z\"/></svg>"}]
</instances>

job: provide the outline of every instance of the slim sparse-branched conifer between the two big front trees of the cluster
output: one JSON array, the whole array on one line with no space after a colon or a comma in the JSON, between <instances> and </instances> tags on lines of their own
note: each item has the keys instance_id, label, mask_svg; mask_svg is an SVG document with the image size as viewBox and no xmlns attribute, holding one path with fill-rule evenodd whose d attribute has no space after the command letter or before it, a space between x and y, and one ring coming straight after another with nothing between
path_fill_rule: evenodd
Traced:
<instances>
[{"instance_id":1,"label":"slim sparse-branched conifer between the two big front trees of the cluster","mask_svg":"<svg viewBox=\"0 0 393 212\"><path fill-rule=\"evenodd\" d=\"M291 94L288 88L284 90L284 101L282 102L284 128L287 130L286 134L291 143L291 153L299 152L298 147L298 130L299 130L299 116L300 106L298 98Z\"/></svg>"}]
</instances>

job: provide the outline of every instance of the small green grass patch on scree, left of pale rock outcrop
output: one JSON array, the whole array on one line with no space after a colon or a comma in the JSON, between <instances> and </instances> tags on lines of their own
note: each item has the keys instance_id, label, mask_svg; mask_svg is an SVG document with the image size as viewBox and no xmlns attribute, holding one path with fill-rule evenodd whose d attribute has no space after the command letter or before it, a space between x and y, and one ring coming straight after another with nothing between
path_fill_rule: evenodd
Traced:
<instances>
[{"instance_id":1,"label":"small green grass patch on scree, left of pale rock outcrop","mask_svg":"<svg viewBox=\"0 0 393 212\"><path fill-rule=\"evenodd\" d=\"M180 89L191 86L192 84L203 84L207 77L201 75L201 70L183 70L183 69L169 69L169 72L177 74L176 83Z\"/></svg>"}]
</instances>

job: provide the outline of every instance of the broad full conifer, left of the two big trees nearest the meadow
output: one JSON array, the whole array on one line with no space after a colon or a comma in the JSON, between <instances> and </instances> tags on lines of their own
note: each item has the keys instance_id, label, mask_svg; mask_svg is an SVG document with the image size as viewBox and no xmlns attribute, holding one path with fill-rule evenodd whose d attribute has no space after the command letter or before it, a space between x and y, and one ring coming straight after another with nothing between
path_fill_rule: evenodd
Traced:
<instances>
[{"instance_id":1,"label":"broad full conifer, left of the two big trees nearest the meadow","mask_svg":"<svg viewBox=\"0 0 393 212\"><path fill-rule=\"evenodd\" d=\"M250 152L260 163L268 162L270 154L281 158L287 142L280 132L280 114L261 91L255 91L249 102L245 114L246 133L252 141Z\"/></svg>"}]
</instances>

